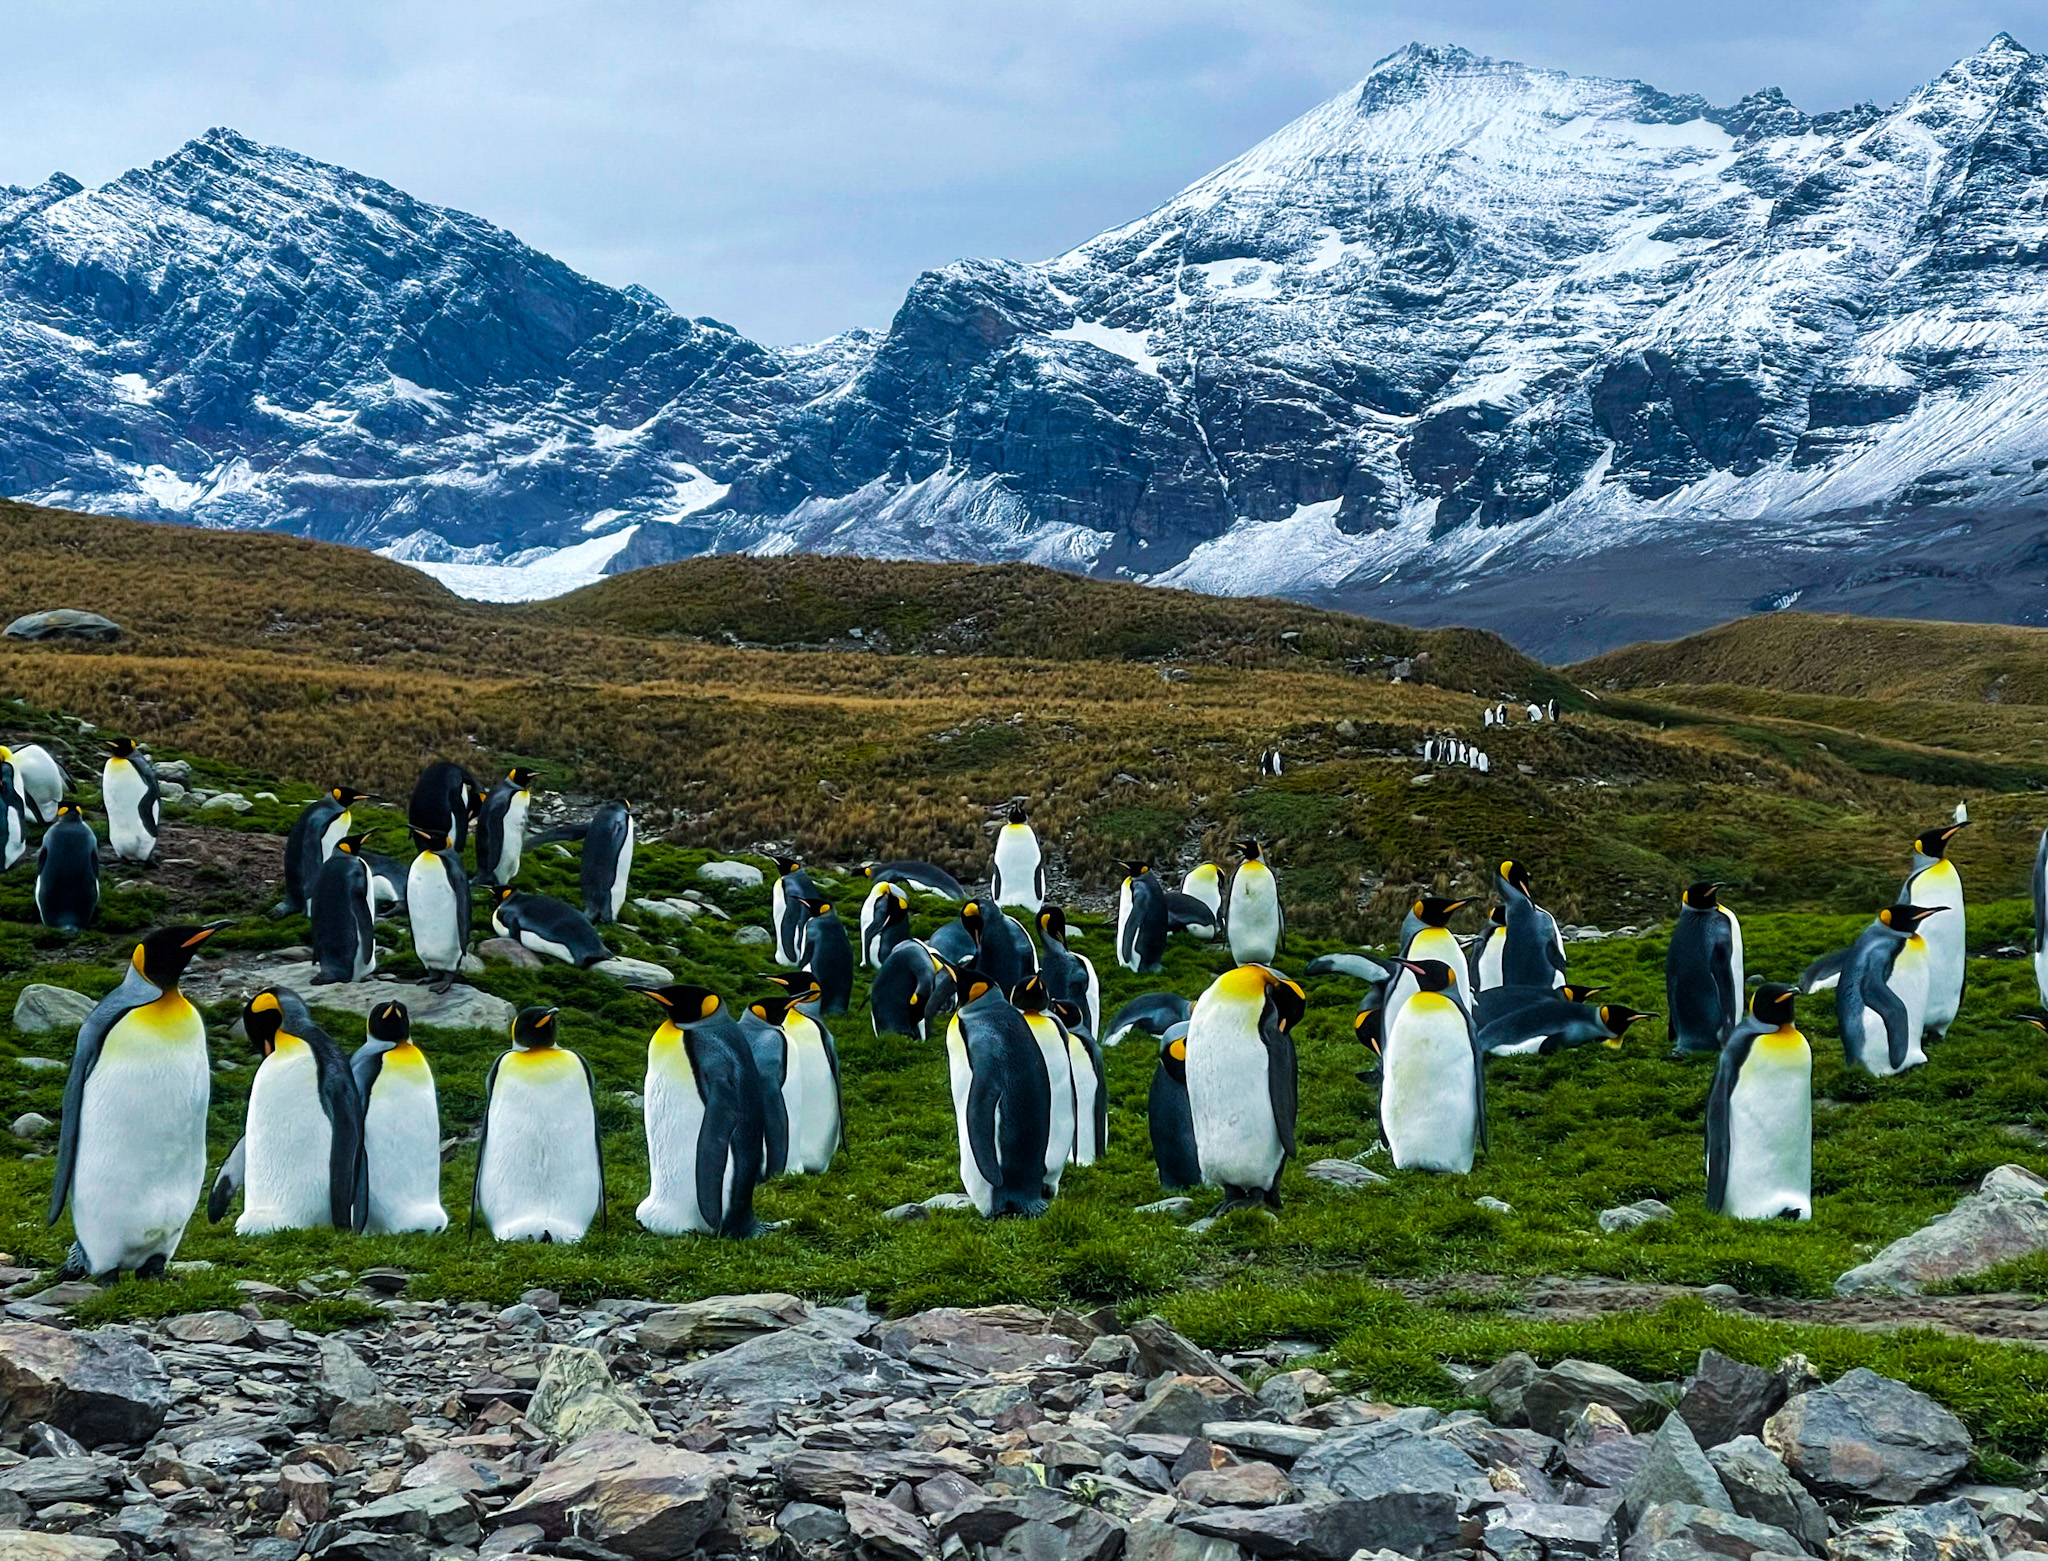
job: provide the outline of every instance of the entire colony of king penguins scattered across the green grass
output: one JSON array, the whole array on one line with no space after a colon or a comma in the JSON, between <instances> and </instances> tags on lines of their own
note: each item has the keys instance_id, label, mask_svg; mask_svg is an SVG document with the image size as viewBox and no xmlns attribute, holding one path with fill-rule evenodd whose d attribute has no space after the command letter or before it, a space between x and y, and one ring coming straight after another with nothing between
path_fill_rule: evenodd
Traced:
<instances>
[{"instance_id":1,"label":"entire colony of king penguins scattered across the green grass","mask_svg":"<svg viewBox=\"0 0 2048 1561\"><path fill-rule=\"evenodd\" d=\"M1507 707L1487 711L1489 725ZM1528 719L1556 719L1528 707ZM1432 744L1436 740L1430 740ZM1438 754L1425 748L1432 760ZM1481 756L1483 758L1483 756ZM1466 760L1468 762L1468 760ZM1278 772L1278 752L1262 756ZM416 953L436 989L459 979L471 930L471 889L487 887L492 928L522 946L590 967L608 959L598 924L618 918L633 869L635 824L604 803L588 826L528 840L532 770L479 787L461 766L434 764L410 801L410 869L352 834L365 793L332 787L297 817L285 852L285 901L313 924L317 983L375 971L383 905L408 914ZM41 824L37 912L57 930L94 918L100 842L63 801L61 766L41 748L0 748L0 817L10 860ZM147 862L156 850L158 780L129 740L109 744L100 795L106 848ZM1225 877L1202 862L1167 889L1149 862L1126 862L1114 957L1159 969L1167 938L1223 938L1233 967L1190 1004L1153 992L1102 1020L1094 963L1071 946L1049 903L1044 852L1020 803L1001 811L987 899L930 862L868 862L858 938L793 858L776 858L770 940L786 973L778 992L733 1008L700 985L645 992L657 1018L643 1088L649 1162L639 1223L655 1233L750 1237L764 1229L756 1188L776 1176L821 1174L844 1151L840 1057L823 1016L848 1012L854 965L874 971L874 1030L940 1041L952 1086L961 1184L983 1217L1047 1211L1067 1166L1090 1166L1108 1141L1104 1047L1135 1032L1157 1043L1147 1127L1167 1188L1212 1186L1219 1213L1280 1207L1280 1176L1296 1153L1298 1067L1292 1030L1307 994L1278 969L1286 932L1280 887L1257 840L1237 842ZM1679 899L1667 965L1673 1055L1716 1057L1706 1108L1708 1207L1737 1219L1812 1213L1812 1053L1794 1024L1800 994L1835 994L1845 1061L1892 1075L1929 1061L1964 996L1962 881L1948 848L1968 813L1913 842L1896 903L1878 910L1849 946L1815 961L1792 985L1747 985L1743 932L1720 885ZM477 871L463 864L475 838ZM582 838L578 910L514 885L526 846ZM928 938L911 936L911 893L961 905ZM2048 1004L2048 834L2034 869L2036 971ZM1409 908L1401 951L1311 961L1305 977L1364 987L1356 1039L1380 1090L1380 1141L1397 1168L1466 1174L1487 1147L1485 1069L1493 1059L1620 1047L1655 1014L1599 1004L1571 981L1556 920L1536 901L1528 869L1501 860L1477 932L1450 922L1470 899L1423 895ZM1024 912L1022 920L1012 910ZM72 1211L74 1274L162 1274L205 1178L207 1032L178 981L225 924L172 926L135 946L123 983L84 1020L63 1094L49 1223ZM1036 932L1036 938L1032 936ZM2048 1018L2030 1020L2048 1028ZM440 1112L434 1071L401 1002L371 1010L352 1057L283 987L254 994L242 1026L260 1055L248 1129L219 1168L207 1217L244 1200L236 1231L336 1227L440 1231ZM485 1080L469 1225L506 1241L578 1241L604 1219L606 1182L588 1061L563 1045L559 1010L526 1008ZM133 1133L139 1119L152 1133Z\"/></svg>"}]
</instances>

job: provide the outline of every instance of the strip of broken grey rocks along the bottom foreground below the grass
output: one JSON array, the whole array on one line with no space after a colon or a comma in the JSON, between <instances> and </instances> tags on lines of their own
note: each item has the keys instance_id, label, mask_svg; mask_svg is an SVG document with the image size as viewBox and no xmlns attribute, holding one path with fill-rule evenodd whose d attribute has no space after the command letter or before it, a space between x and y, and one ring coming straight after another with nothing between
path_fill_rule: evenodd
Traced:
<instances>
[{"instance_id":1,"label":"strip of broken grey rocks along the bottom foreground below the grass","mask_svg":"<svg viewBox=\"0 0 2048 1561\"><path fill-rule=\"evenodd\" d=\"M1958 1483L1933 1399L1712 1350L1686 1383L1516 1354L1481 1411L1346 1397L1307 1346L1214 1358L1147 1317L885 1319L856 1297L412 1301L315 1336L297 1299L0 1323L8 1561L1458 1557L1997 1561L2048 1495ZM287 1311L264 1319L258 1305Z\"/></svg>"}]
</instances>

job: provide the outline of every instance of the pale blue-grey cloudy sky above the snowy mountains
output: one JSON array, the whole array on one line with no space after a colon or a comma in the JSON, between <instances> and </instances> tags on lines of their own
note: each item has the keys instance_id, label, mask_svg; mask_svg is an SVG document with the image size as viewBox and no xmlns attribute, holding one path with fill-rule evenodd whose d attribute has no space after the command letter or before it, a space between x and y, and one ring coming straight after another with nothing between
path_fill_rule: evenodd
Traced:
<instances>
[{"instance_id":1,"label":"pale blue-grey cloudy sky above the snowy mountains","mask_svg":"<svg viewBox=\"0 0 2048 1561\"><path fill-rule=\"evenodd\" d=\"M0 0L0 182L211 125L475 211L766 342L885 326L956 256L1151 209L1403 43L1733 102L1892 102L2048 4L1982 0Z\"/></svg>"}]
</instances>

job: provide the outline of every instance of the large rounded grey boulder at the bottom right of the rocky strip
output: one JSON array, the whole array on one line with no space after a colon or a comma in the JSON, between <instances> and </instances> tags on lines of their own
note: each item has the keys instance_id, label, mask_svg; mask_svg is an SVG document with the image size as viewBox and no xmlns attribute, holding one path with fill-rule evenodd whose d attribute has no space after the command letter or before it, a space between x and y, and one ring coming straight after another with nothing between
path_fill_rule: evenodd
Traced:
<instances>
[{"instance_id":1,"label":"large rounded grey boulder at the bottom right of the rocky strip","mask_svg":"<svg viewBox=\"0 0 2048 1561\"><path fill-rule=\"evenodd\" d=\"M1915 1502L1970 1463L1970 1434L1905 1383L1858 1366L1792 1397L1763 1444L1806 1489L1853 1502Z\"/></svg>"}]
</instances>

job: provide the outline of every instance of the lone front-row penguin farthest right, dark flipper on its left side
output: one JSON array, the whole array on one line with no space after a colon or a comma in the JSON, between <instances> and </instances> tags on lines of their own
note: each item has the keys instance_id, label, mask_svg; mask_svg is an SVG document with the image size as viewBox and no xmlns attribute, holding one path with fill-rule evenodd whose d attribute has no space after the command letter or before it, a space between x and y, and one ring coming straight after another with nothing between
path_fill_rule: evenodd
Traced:
<instances>
[{"instance_id":1,"label":"lone front-row penguin farthest right, dark flipper on its left side","mask_svg":"<svg viewBox=\"0 0 2048 1561\"><path fill-rule=\"evenodd\" d=\"M1706 1096L1706 1207L1735 1219L1812 1219L1812 1049L1792 989L1761 985Z\"/></svg>"}]
</instances>

